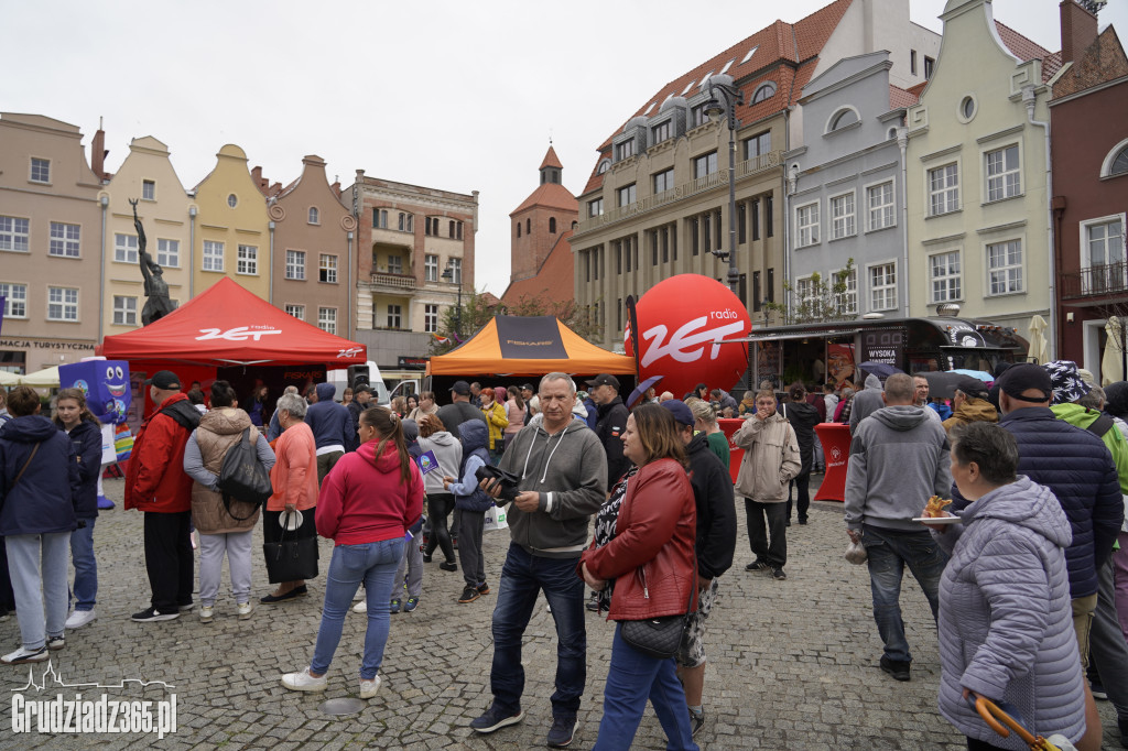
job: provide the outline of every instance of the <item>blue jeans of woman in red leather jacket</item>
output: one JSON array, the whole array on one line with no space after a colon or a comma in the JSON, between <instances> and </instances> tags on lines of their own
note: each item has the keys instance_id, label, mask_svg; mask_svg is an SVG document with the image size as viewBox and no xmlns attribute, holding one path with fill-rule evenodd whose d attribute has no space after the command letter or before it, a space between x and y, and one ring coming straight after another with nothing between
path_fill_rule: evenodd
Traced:
<instances>
[{"instance_id":1,"label":"blue jeans of woman in red leather jacket","mask_svg":"<svg viewBox=\"0 0 1128 751\"><path fill-rule=\"evenodd\" d=\"M689 710L672 659L644 655L623 640L622 626L615 626L611 664L603 687L603 718L592 751L626 751L634 741L646 699L666 731L666 748L697 751L689 727Z\"/></svg>"}]
</instances>

